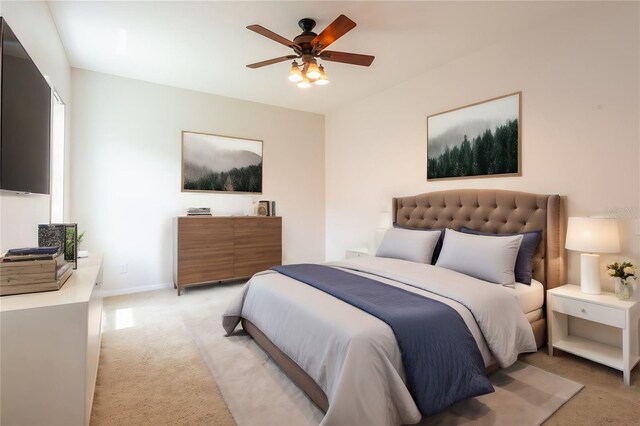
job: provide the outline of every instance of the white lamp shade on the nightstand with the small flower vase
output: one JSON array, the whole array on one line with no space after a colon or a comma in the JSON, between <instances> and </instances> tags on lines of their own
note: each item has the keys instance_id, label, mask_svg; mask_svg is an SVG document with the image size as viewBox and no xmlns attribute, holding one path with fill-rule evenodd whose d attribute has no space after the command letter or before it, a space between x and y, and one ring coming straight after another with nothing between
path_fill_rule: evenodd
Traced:
<instances>
[{"instance_id":1,"label":"white lamp shade on the nightstand with the small flower vase","mask_svg":"<svg viewBox=\"0 0 640 426\"><path fill-rule=\"evenodd\" d=\"M606 218L570 217L565 247L587 253L617 253L620 251L618 222Z\"/></svg>"}]
</instances>

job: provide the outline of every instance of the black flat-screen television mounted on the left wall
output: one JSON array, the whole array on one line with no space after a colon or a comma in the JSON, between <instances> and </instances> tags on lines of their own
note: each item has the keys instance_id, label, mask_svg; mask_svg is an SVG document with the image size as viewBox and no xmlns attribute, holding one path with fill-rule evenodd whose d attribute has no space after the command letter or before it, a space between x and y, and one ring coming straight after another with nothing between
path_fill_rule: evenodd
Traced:
<instances>
[{"instance_id":1,"label":"black flat-screen television mounted on the left wall","mask_svg":"<svg viewBox=\"0 0 640 426\"><path fill-rule=\"evenodd\" d=\"M51 88L0 17L0 189L49 194Z\"/></svg>"}]
</instances>

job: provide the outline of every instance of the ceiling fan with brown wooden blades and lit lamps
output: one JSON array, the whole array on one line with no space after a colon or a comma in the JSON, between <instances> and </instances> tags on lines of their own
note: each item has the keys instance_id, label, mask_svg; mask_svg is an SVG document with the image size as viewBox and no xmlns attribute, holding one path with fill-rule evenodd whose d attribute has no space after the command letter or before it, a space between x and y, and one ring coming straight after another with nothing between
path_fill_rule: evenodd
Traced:
<instances>
[{"instance_id":1,"label":"ceiling fan with brown wooden blades and lit lamps","mask_svg":"<svg viewBox=\"0 0 640 426\"><path fill-rule=\"evenodd\" d=\"M295 55L280 56L279 58L268 59L266 61L249 64L249 68L260 68L266 65L277 64L293 59L291 70L289 71L289 80L296 82L298 87L307 88L311 83L323 85L329 83L324 67L318 65L318 59L331 62L341 62L344 64L360 65L368 67L371 65L375 56L361 55L358 53L336 52L333 50L325 50L334 41L355 28L356 23L344 15L338 16L327 28L320 34L314 33L312 30L316 26L316 21L311 18L303 18L298 22L302 28L302 34L295 37L293 41L288 40L273 31L270 31L260 25L249 25L247 28L260 35L270 38L280 44L283 44L295 52ZM302 70L295 61L300 59L302 62Z\"/></svg>"}]
</instances>

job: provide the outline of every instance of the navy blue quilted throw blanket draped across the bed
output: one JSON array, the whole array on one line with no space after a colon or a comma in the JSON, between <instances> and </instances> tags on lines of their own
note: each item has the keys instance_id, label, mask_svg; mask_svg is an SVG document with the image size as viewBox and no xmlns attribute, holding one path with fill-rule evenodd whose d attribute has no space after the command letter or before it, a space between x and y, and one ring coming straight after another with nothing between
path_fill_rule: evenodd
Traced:
<instances>
[{"instance_id":1,"label":"navy blue quilted throw blanket draped across the bed","mask_svg":"<svg viewBox=\"0 0 640 426\"><path fill-rule=\"evenodd\" d=\"M407 387L423 416L493 392L480 350L460 314L450 306L329 266L299 264L271 269L387 323L400 347Z\"/></svg>"}]
</instances>

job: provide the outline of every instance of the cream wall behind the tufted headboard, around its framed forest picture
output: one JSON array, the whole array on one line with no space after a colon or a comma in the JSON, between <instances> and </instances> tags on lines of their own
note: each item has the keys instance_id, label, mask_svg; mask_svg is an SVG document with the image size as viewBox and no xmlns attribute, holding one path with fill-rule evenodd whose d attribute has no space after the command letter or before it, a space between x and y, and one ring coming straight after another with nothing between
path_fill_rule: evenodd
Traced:
<instances>
[{"instance_id":1,"label":"cream wall behind the tufted headboard, around its framed forest picture","mask_svg":"<svg viewBox=\"0 0 640 426\"><path fill-rule=\"evenodd\" d=\"M394 196L497 188L565 195L569 215L620 209L620 256L638 260L631 218L640 212L639 7L576 3L571 18L328 114L327 258L371 247L379 213L390 211ZM426 117L516 91L522 176L427 183ZM578 276L579 257L570 252L569 279Z\"/></svg>"}]
</instances>

